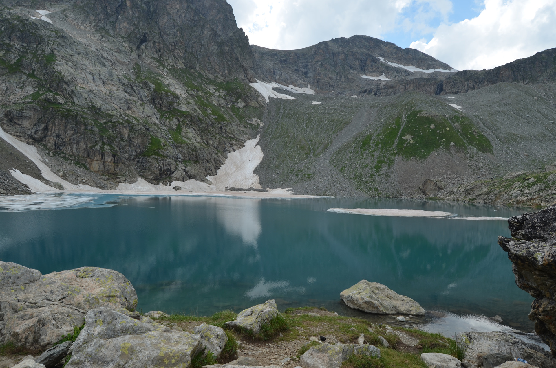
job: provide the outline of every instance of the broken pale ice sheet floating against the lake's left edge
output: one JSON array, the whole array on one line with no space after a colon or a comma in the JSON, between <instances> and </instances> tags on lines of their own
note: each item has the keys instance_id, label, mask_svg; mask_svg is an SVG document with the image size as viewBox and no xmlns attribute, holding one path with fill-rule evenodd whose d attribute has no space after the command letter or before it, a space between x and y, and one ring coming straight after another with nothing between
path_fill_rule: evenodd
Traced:
<instances>
[{"instance_id":1,"label":"broken pale ice sheet floating against the lake's left edge","mask_svg":"<svg viewBox=\"0 0 556 368\"><path fill-rule=\"evenodd\" d=\"M0 197L0 212L66 210L80 207L112 207L112 196L76 194L37 194Z\"/></svg>"}]
</instances>

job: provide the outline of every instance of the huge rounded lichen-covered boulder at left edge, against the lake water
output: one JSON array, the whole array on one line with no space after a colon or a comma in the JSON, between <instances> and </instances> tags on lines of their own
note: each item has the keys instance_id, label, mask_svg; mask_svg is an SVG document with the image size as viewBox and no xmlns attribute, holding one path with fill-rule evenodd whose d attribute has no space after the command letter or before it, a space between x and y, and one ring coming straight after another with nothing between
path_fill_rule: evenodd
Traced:
<instances>
[{"instance_id":1,"label":"huge rounded lichen-covered boulder at left edge, against the lake water","mask_svg":"<svg viewBox=\"0 0 556 368\"><path fill-rule=\"evenodd\" d=\"M135 310L137 294L120 272L81 267L42 275L0 261L0 344L46 349L100 306Z\"/></svg>"}]
</instances>

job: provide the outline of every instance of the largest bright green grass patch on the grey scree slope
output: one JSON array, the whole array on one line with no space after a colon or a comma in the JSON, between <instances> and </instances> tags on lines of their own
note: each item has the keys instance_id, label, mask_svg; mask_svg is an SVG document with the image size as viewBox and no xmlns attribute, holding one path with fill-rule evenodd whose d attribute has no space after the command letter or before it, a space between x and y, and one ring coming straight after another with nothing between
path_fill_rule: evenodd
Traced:
<instances>
[{"instance_id":1,"label":"largest bright green grass patch on the grey scree slope","mask_svg":"<svg viewBox=\"0 0 556 368\"><path fill-rule=\"evenodd\" d=\"M452 142L455 147L466 148L446 118L414 110L406 117L396 149L404 158L426 158L439 148L449 151Z\"/></svg>"}]
</instances>

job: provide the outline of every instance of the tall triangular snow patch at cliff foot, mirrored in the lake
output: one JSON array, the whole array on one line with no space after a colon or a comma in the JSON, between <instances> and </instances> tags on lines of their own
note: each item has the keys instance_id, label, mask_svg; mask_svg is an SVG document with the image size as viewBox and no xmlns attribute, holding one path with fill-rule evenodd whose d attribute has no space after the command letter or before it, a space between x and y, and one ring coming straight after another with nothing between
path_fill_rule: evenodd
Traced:
<instances>
[{"instance_id":1,"label":"tall triangular snow patch at cliff foot, mirrored in the lake","mask_svg":"<svg viewBox=\"0 0 556 368\"><path fill-rule=\"evenodd\" d=\"M213 190L224 191L226 188L262 188L259 175L253 171L262 161L261 146L257 146L259 138L245 142L245 146L235 152L228 153L228 158L216 175L207 176L214 183Z\"/></svg>"}]
</instances>

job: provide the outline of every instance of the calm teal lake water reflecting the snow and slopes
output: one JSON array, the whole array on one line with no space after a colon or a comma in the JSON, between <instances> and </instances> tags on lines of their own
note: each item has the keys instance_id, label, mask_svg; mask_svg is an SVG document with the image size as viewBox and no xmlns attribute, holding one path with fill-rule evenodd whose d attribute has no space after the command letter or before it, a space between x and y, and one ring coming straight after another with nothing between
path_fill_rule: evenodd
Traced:
<instances>
[{"instance_id":1,"label":"calm teal lake water reflecting the snow and slopes","mask_svg":"<svg viewBox=\"0 0 556 368\"><path fill-rule=\"evenodd\" d=\"M505 325L533 330L527 318L533 298L515 285L512 263L497 244L499 235L509 236L506 221L326 211L399 208L508 217L523 210L346 198L48 198L43 206L62 203L58 207L66 209L26 211L41 205L0 203L20 210L0 212L0 258L43 274L81 266L120 271L135 286L143 312L210 315L275 299L281 310L308 305L353 315L339 294L365 279L426 310L499 315ZM459 328L448 322L440 330Z\"/></svg>"}]
</instances>

